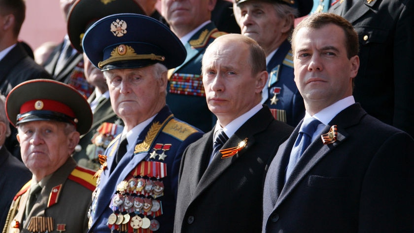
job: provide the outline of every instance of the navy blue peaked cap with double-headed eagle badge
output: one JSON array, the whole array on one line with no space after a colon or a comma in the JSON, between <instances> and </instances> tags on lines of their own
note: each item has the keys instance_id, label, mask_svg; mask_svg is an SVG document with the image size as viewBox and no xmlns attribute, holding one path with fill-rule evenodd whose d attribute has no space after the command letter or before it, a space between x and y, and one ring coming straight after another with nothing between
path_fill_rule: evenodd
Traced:
<instances>
[{"instance_id":1,"label":"navy blue peaked cap with double-headed eagle badge","mask_svg":"<svg viewBox=\"0 0 414 233\"><path fill-rule=\"evenodd\" d=\"M187 52L163 23L140 14L115 14L92 25L82 41L89 60L102 71L135 69L155 63L168 69L184 62Z\"/></svg>"}]
</instances>

